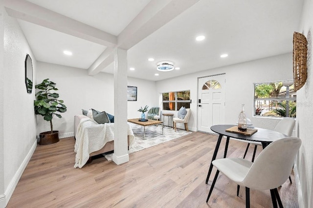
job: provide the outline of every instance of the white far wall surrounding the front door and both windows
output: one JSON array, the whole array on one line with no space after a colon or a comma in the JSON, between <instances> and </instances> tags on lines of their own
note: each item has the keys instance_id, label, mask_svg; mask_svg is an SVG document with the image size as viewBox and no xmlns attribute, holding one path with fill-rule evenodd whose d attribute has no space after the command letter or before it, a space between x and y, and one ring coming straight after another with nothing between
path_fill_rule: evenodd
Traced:
<instances>
[{"instance_id":1,"label":"white far wall surrounding the front door and both windows","mask_svg":"<svg viewBox=\"0 0 313 208\"><path fill-rule=\"evenodd\" d=\"M156 83L156 91L158 93L162 93L169 91L190 90L190 99L192 100L190 108L192 113L188 122L188 128L196 131L198 78L222 73L226 74L225 124L235 124L238 121L241 104L245 104L246 115L251 119L254 126L274 129L276 124L279 122L278 119L265 119L252 116L254 112L253 83L291 80L292 53L205 70L178 78L159 81ZM159 96L159 99L159 103L161 103L161 96ZM177 117L177 111L174 112L174 117ZM183 125L180 127L183 128Z\"/></svg>"}]
</instances>

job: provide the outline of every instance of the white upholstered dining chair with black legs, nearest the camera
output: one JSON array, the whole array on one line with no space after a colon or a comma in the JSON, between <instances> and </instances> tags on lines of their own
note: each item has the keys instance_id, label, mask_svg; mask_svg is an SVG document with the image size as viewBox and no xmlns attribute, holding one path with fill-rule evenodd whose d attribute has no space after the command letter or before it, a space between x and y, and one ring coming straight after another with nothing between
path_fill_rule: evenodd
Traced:
<instances>
[{"instance_id":1,"label":"white upholstered dining chair with black legs, nearest the camera","mask_svg":"<svg viewBox=\"0 0 313 208\"><path fill-rule=\"evenodd\" d=\"M289 177L295 156L301 146L301 140L288 137L268 145L254 163L242 158L223 158L212 161L217 172L213 179L208 202L219 172L240 186L246 187L246 208L250 207L250 188L270 190L274 207L283 207L277 187L285 183Z\"/></svg>"}]
</instances>

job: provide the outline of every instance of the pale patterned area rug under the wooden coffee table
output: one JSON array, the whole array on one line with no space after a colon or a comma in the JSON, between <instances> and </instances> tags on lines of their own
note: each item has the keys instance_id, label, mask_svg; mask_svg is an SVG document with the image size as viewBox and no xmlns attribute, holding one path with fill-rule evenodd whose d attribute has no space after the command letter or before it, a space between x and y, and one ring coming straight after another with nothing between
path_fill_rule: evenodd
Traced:
<instances>
[{"instance_id":1,"label":"pale patterned area rug under the wooden coffee table","mask_svg":"<svg viewBox=\"0 0 313 208\"><path fill-rule=\"evenodd\" d=\"M162 135L162 125L151 125L146 126L146 136L145 140L143 139L143 126L135 125L132 123L129 123L131 125L131 128L134 132L134 143L132 146L129 147L128 153L132 154L134 152L147 149L152 146L156 146L168 141L171 141L173 139L177 139L179 137L185 136L187 134L192 133L191 131L186 131L183 129L177 129L176 132L173 128L165 126L163 128L163 135ZM104 154L104 157L108 161L112 161L112 155L111 154Z\"/></svg>"}]
</instances>

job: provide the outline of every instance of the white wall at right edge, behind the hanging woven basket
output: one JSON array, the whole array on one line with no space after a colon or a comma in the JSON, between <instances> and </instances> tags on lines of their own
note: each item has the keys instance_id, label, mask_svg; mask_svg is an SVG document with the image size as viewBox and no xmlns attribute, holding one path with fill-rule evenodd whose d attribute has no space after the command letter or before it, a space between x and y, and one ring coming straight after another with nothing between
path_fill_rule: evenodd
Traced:
<instances>
[{"instance_id":1,"label":"white wall at right edge, behind the hanging woven basket","mask_svg":"<svg viewBox=\"0 0 313 208\"><path fill-rule=\"evenodd\" d=\"M309 35L309 31L311 35ZM313 207L313 0L305 0L299 31L308 40L308 78L297 91L297 136L302 140L295 169L298 173L298 201L300 208Z\"/></svg>"}]
</instances>

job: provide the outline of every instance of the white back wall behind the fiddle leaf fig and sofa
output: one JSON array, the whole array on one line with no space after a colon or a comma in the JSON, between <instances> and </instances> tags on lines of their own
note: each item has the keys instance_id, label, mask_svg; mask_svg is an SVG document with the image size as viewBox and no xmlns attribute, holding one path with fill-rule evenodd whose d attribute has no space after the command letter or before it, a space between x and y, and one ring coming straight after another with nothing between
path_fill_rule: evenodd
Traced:
<instances>
[{"instance_id":1,"label":"white back wall behind the fiddle leaf fig and sofa","mask_svg":"<svg viewBox=\"0 0 313 208\"><path fill-rule=\"evenodd\" d=\"M64 100L67 112L63 118L54 117L53 130L59 130L60 138L73 136L74 115L82 109L93 108L114 114L113 74L99 73L89 76L86 69L56 65L46 62L37 64L37 84L49 78L56 83L56 91ZM137 87L137 101L128 102L128 118L139 118L140 106L157 104L155 82L128 78L128 85ZM37 116L38 134L50 130L50 123Z\"/></svg>"}]
</instances>

